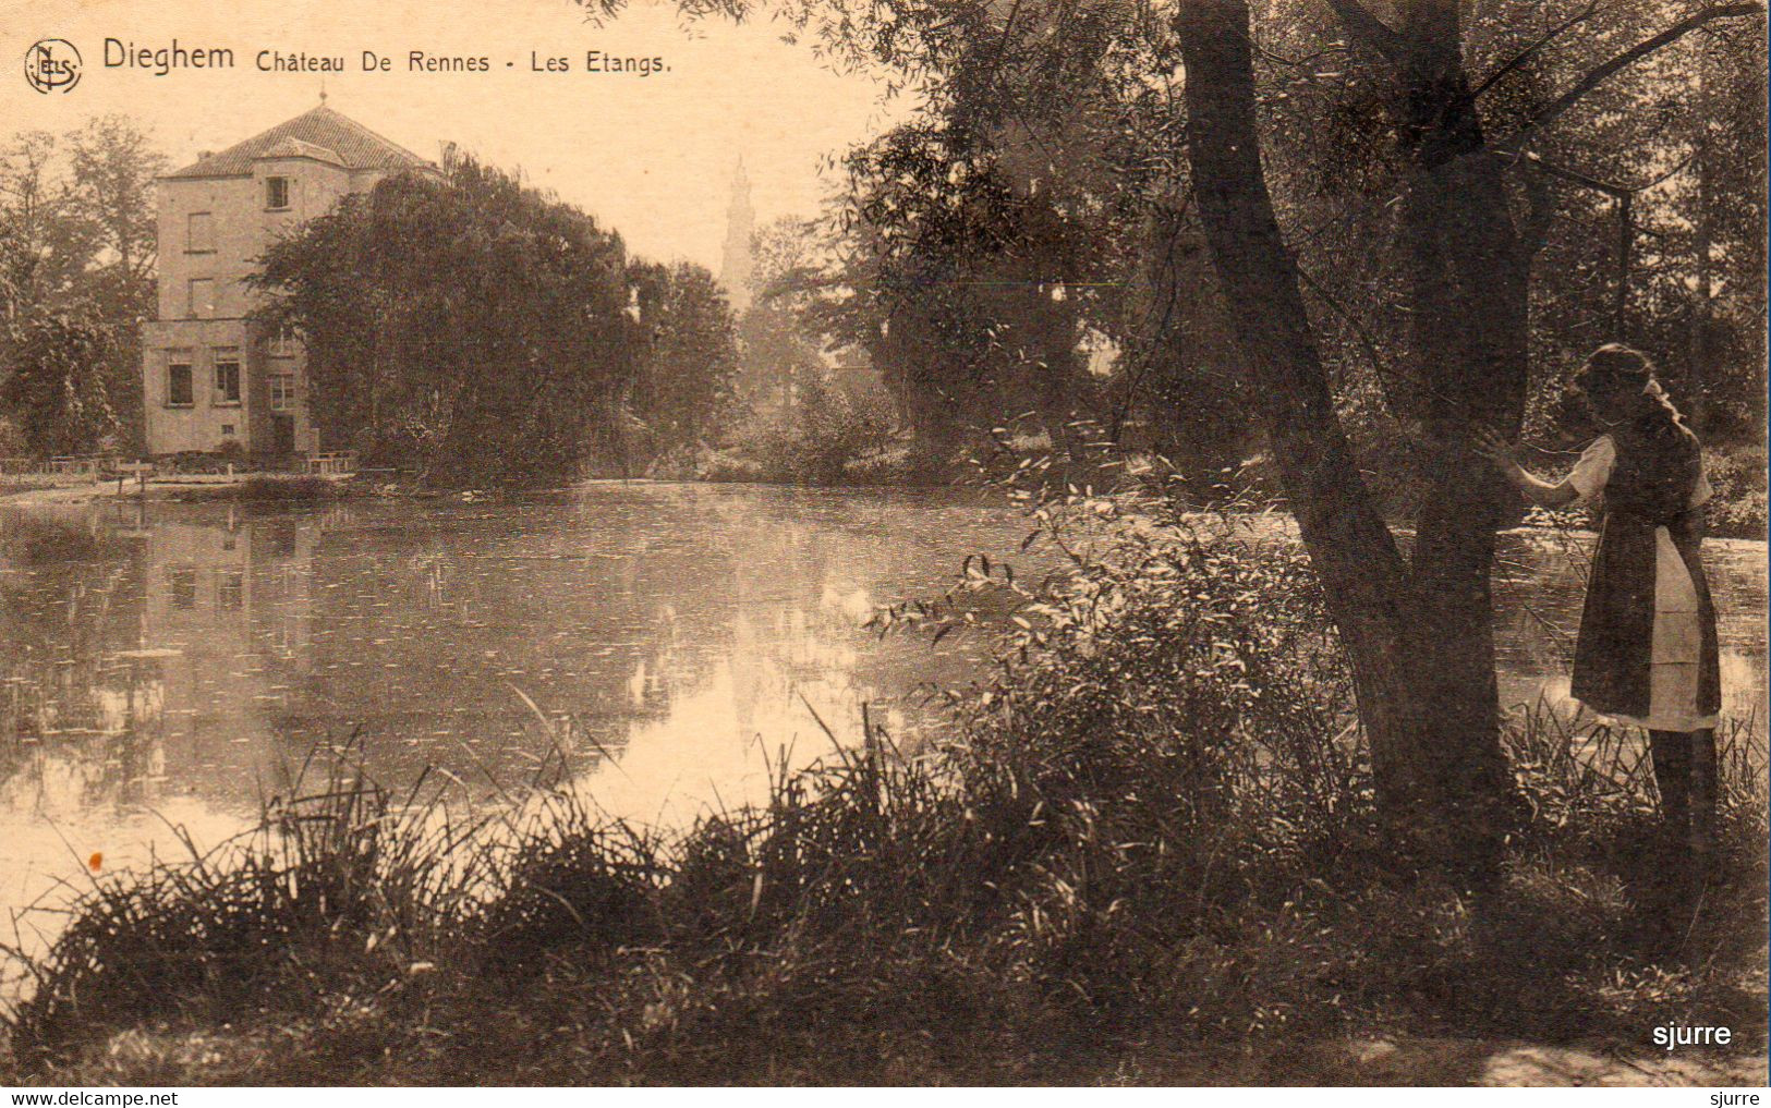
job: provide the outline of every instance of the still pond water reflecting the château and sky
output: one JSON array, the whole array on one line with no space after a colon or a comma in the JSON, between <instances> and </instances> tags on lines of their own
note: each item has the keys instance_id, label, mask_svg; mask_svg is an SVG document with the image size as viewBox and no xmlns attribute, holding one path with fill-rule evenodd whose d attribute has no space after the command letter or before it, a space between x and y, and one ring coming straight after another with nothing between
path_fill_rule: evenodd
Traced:
<instances>
[{"instance_id":1,"label":"still pond water reflecting the ch\u00e2teau and sky","mask_svg":"<svg viewBox=\"0 0 1771 1108\"><path fill-rule=\"evenodd\" d=\"M356 736L390 786L432 766L478 796L563 758L641 821L756 798L770 759L859 736L862 706L914 742L988 641L861 623L972 552L1036 570L1027 533L958 492L749 485L0 508L0 910L78 887L94 853L175 855L177 827L223 839L322 740ZM1587 540L1505 538L1502 692L1555 699ZM1764 545L1707 558L1727 712L1762 719Z\"/></svg>"}]
</instances>

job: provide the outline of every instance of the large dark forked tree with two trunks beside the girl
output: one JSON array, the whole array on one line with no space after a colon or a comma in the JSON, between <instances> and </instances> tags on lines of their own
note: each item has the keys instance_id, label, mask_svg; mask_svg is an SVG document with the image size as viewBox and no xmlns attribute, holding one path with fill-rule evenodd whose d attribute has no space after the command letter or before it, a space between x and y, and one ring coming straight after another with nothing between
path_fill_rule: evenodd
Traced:
<instances>
[{"instance_id":1,"label":"large dark forked tree with two trunks beside the girl","mask_svg":"<svg viewBox=\"0 0 1771 1108\"><path fill-rule=\"evenodd\" d=\"M1355 664L1385 807L1401 830L1450 853L1458 834L1477 844L1498 835L1507 793L1489 604L1505 492L1468 448L1477 425L1520 427L1530 377L1535 244L1520 234L1507 173L1535 135L1608 78L1711 19L1762 9L1732 4L1674 19L1578 76L1511 133L1491 136L1477 103L1488 85L1466 71L1458 4L1399 5L1394 27L1358 0L1332 7L1387 78L1387 115L1406 166L1396 225L1408 262L1413 375L1406 400L1397 400L1420 428L1427 474L1411 558L1397 550L1335 421L1261 165L1243 0L1187 0L1178 9L1187 152L1238 340L1264 386L1268 435ZM1463 818L1449 823L1445 814Z\"/></svg>"}]
</instances>

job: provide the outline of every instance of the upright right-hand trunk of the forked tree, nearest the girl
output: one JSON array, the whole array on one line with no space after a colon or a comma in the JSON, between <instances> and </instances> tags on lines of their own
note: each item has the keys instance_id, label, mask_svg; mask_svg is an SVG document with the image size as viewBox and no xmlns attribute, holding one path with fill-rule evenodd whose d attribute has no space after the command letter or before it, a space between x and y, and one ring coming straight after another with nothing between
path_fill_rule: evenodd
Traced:
<instances>
[{"instance_id":1,"label":"upright right-hand trunk of the forked tree, nearest the girl","mask_svg":"<svg viewBox=\"0 0 1771 1108\"><path fill-rule=\"evenodd\" d=\"M1514 434L1530 356L1530 250L1507 204L1463 71L1452 4L1408 9L1397 67L1403 149L1413 175L1401 205L1410 347L1426 379L1426 496L1411 552L1420 658L1420 742L1463 827L1498 835L1511 772L1500 749L1489 577L1495 529L1512 503L1470 448L1473 425Z\"/></svg>"}]
</instances>

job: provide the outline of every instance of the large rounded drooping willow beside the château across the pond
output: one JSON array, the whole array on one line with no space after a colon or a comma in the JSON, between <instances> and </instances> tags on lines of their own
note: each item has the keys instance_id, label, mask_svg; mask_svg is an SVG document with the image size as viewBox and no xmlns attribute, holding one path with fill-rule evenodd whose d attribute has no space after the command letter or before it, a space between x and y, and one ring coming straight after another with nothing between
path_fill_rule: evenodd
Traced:
<instances>
[{"instance_id":1,"label":"large rounded drooping willow beside the ch\u00e2teau across the pond","mask_svg":"<svg viewBox=\"0 0 1771 1108\"><path fill-rule=\"evenodd\" d=\"M253 283L322 437L436 485L576 476L641 358L620 237L471 158L344 198Z\"/></svg>"}]
</instances>

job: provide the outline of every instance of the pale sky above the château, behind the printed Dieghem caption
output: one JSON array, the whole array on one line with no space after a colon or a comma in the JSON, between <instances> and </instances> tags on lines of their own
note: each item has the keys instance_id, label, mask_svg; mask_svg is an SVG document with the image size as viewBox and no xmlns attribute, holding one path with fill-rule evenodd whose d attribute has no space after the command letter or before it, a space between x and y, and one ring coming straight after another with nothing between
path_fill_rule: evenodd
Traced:
<instances>
[{"instance_id":1,"label":"pale sky above the ch\u00e2teau, behind the printed Dieghem caption","mask_svg":"<svg viewBox=\"0 0 1771 1108\"><path fill-rule=\"evenodd\" d=\"M453 140L554 189L629 250L717 273L733 166L742 154L758 223L813 214L836 184L827 156L877 135L905 108L878 85L838 76L767 21L703 21L636 2L599 28L570 0L0 0L0 142L62 131L89 115L136 117L175 166L319 103L429 159ZM41 94L23 58L39 39L81 55L80 83ZM228 48L232 69L106 67L104 39L136 48ZM275 50L342 57L344 73L260 73ZM363 73L363 51L393 60ZM485 57L489 73L411 73L407 55ZM662 57L668 73L586 73L586 51ZM531 71L530 53L568 73ZM115 51L113 51L115 53Z\"/></svg>"}]
</instances>

